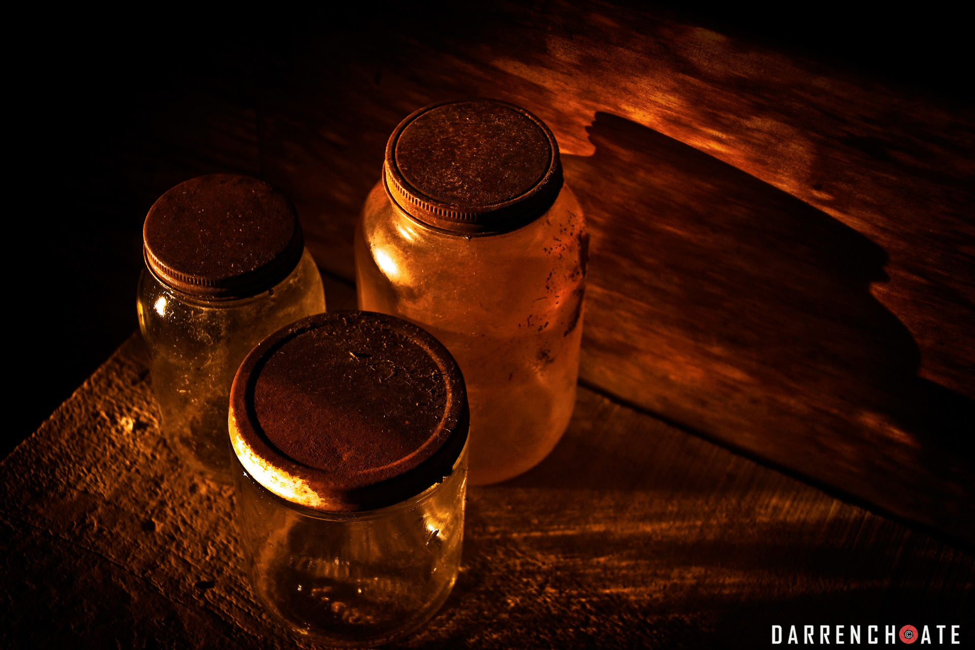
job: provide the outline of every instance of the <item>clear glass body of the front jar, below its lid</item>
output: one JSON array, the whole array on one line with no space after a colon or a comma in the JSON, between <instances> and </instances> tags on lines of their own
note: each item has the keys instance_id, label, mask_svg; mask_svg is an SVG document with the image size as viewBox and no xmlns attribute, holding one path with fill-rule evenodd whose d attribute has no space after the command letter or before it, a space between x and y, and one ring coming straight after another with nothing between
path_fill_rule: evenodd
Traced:
<instances>
[{"instance_id":1,"label":"clear glass body of the front jar, below its lid","mask_svg":"<svg viewBox=\"0 0 975 650\"><path fill-rule=\"evenodd\" d=\"M290 630L371 646L415 630L447 600L460 568L466 446L443 482L359 513L292 504L233 463L254 594Z\"/></svg>"}]
</instances>

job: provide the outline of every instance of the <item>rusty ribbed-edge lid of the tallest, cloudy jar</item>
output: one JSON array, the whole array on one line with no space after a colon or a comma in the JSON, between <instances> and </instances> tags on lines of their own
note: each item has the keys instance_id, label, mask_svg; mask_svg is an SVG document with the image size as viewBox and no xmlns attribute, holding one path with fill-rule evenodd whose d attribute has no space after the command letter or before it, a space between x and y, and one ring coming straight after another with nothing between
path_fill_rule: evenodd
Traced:
<instances>
[{"instance_id":1,"label":"rusty ribbed-edge lid of the tallest, cloudy jar","mask_svg":"<svg viewBox=\"0 0 975 650\"><path fill-rule=\"evenodd\" d=\"M386 144L386 191L411 217L458 235L520 228L562 189L548 127L496 99L445 101L400 123Z\"/></svg>"}]
</instances>

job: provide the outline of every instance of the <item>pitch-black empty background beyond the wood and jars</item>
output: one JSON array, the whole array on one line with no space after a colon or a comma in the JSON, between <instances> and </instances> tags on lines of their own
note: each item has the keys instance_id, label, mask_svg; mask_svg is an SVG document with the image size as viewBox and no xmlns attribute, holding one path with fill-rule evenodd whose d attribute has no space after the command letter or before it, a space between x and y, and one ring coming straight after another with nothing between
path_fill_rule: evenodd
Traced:
<instances>
[{"instance_id":1,"label":"pitch-black empty background beyond the wood and jars","mask_svg":"<svg viewBox=\"0 0 975 650\"><path fill-rule=\"evenodd\" d=\"M532 6L544 17L543 2ZM963 20L943 5L897 12L851 3L775 9L731 3L615 3L810 57L952 106L970 105ZM472 29L478 10L427 3L408 10L333 10L247 16L157 7L140 17L77 13L12 24L20 46L10 67L16 92L10 129L18 162L8 249L15 284L16 415L0 446L6 455L137 327L141 224L152 202L208 172L260 173L190 155L199 138L219 137L186 106L201 89L244 98L278 65L316 39L368 38L378 23L426 38ZM611 15L613 4L602 11ZM376 42L381 48L382 43ZM261 60L268 60L261 57ZM959 74L958 69L968 70ZM176 101L175 99L181 99ZM174 110L173 106L181 106ZM254 156L254 160L257 160ZM20 208L17 206L20 205Z\"/></svg>"}]
</instances>

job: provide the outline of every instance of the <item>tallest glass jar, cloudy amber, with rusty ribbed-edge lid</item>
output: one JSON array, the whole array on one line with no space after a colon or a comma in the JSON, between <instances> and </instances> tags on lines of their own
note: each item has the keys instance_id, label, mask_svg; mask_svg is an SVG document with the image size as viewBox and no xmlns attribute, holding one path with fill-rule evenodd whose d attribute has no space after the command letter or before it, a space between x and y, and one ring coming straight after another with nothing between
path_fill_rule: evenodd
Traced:
<instances>
[{"instance_id":1,"label":"tallest glass jar, cloudy amber, with rusty ribbed-edge lid","mask_svg":"<svg viewBox=\"0 0 975 650\"><path fill-rule=\"evenodd\" d=\"M526 110L434 104L390 136L356 228L359 308L421 325L459 363L474 484L526 472L565 432L588 247L555 137Z\"/></svg>"}]
</instances>

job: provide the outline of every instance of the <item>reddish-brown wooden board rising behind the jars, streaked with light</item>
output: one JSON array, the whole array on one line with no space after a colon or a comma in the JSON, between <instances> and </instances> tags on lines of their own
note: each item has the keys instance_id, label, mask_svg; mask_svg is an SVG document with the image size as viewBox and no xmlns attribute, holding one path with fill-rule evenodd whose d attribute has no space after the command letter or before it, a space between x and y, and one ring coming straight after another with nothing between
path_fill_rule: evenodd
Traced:
<instances>
[{"instance_id":1,"label":"reddish-brown wooden board rising behind the jars, streaked with light","mask_svg":"<svg viewBox=\"0 0 975 650\"><path fill-rule=\"evenodd\" d=\"M975 540L970 112L607 3L264 49L260 166L323 268L411 110L545 119L593 228L587 385Z\"/></svg>"}]
</instances>

